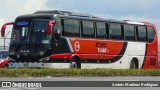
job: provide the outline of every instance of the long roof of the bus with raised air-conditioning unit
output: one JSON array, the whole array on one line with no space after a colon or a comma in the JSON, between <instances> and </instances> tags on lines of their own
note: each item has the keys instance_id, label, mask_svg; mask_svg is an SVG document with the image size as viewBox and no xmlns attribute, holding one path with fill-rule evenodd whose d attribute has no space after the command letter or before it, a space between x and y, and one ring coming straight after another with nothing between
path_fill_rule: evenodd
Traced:
<instances>
[{"instance_id":1,"label":"long roof of the bus with raised air-conditioning unit","mask_svg":"<svg viewBox=\"0 0 160 90\"><path fill-rule=\"evenodd\" d=\"M28 15L22 15L19 16L19 18L34 18L34 17L50 17L50 18L76 18L76 19L85 19L85 20L96 20L96 21L102 21L102 22L111 22L111 23L122 23L122 24L133 24L133 25L149 25L146 22L134 22L130 20L123 20L118 21L114 19L102 19L98 18L97 16L94 16L92 14L87 13L79 13L79 12L70 12L70 11L62 11L62 10L46 10L46 11L36 11L33 14ZM148 22L149 23L149 22ZM153 24L150 24L153 25Z\"/></svg>"}]
</instances>

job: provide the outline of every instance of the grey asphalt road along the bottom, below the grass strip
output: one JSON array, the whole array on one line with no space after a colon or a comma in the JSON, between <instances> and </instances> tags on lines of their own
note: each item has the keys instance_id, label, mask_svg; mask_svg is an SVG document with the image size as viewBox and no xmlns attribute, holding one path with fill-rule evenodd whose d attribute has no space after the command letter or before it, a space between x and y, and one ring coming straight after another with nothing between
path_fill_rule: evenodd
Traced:
<instances>
[{"instance_id":1,"label":"grey asphalt road along the bottom, below the grass strip","mask_svg":"<svg viewBox=\"0 0 160 90\"><path fill-rule=\"evenodd\" d=\"M68 81L71 81L71 82L75 82L77 83L76 81L82 81L84 83L82 84L85 84L86 81L89 81L87 82L88 84L91 84L92 82L95 82L95 81L104 81L104 82L152 82L152 81L160 81L160 76L159 77L150 77L150 76L146 76L146 77L50 77L50 76L47 76L47 77L43 77L43 78L39 78L39 77L29 77L29 78L0 78L0 82L6 82L6 81L11 81L11 82L14 82L14 81L21 81L21 83L23 82L29 82L29 81L35 81L35 82L38 82L38 81L53 81L53 83L48 83L48 84L51 84L51 85L55 85L57 83L55 82L60 82L60 83L63 83L63 82L68 82ZM68 83L66 83L66 85L70 85ZM74 85L74 83L71 83ZM87 85L88 85L87 84ZM93 83L94 84L94 83ZM159 90L160 87L98 87L98 86L92 86L93 84L91 84L91 87L64 87L64 86L59 86L59 87L25 87L25 88L18 88L18 87L0 87L0 90L135 90L135 89L139 89L139 90ZM97 83L98 84L98 83ZM160 84L160 83L158 83ZM0 85L1 86L1 85ZM72 86L72 85L71 85ZM160 85L159 85L160 86Z\"/></svg>"}]
</instances>

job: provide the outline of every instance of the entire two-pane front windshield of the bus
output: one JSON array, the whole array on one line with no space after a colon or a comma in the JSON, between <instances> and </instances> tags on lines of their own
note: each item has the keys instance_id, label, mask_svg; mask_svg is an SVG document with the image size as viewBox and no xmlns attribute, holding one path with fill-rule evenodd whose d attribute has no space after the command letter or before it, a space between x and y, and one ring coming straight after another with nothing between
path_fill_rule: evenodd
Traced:
<instances>
[{"instance_id":1,"label":"entire two-pane front windshield of the bus","mask_svg":"<svg viewBox=\"0 0 160 90\"><path fill-rule=\"evenodd\" d=\"M49 20L34 19L30 25L27 21L17 21L12 32L12 44L48 44L47 25Z\"/></svg>"}]
</instances>

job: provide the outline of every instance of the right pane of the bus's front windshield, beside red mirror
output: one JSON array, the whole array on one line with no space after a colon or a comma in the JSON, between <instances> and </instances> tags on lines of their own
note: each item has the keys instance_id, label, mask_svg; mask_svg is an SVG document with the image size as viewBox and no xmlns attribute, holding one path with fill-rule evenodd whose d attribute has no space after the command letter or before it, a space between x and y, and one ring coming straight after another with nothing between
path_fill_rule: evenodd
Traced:
<instances>
[{"instance_id":1,"label":"right pane of the bus's front windshield, beside red mirror","mask_svg":"<svg viewBox=\"0 0 160 90\"><path fill-rule=\"evenodd\" d=\"M47 35L48 20L33 20L30 31L30 44L48 44L49 36Z\"/></svg>"}]
</instances>

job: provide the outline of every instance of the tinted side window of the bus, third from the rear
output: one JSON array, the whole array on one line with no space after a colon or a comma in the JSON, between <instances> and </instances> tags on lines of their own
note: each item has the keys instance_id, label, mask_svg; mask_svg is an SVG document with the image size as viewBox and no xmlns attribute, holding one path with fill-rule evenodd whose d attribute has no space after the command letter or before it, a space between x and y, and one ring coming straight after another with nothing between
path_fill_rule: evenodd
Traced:
<instances>
[{"instance_id":1,"label":"tinted side window of the bus, third from the rear","mask_svg":"<svg viewBox=\"0 0 160 90\"><path fill-rule=\"evenodd\" d=\"M135 41L135 29L132 25L124 25L125 40Z\"/></svg>"}]
</instances>

